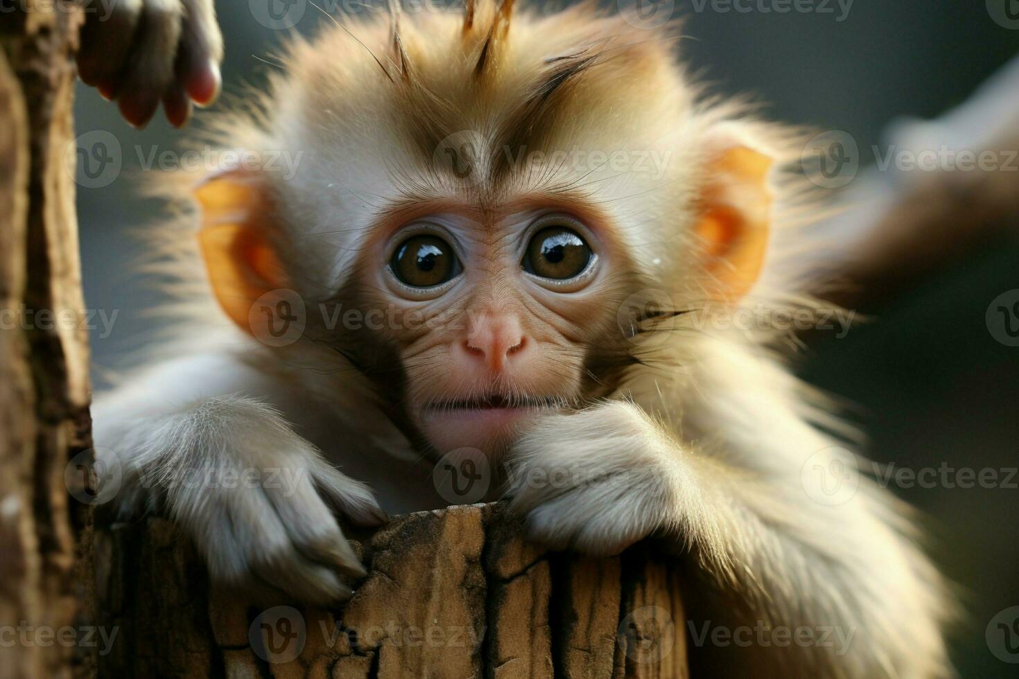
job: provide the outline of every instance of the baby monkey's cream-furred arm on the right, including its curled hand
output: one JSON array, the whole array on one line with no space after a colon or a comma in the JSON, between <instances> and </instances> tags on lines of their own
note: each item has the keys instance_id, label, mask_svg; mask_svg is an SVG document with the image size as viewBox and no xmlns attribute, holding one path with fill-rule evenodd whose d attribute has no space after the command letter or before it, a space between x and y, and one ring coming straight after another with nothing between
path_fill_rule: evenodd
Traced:
<instances>
[{"instance_id":1,"label":"baby monkey's cream-furred arm on the right, including its curled hand","mask_svg":"<svg viewBox=\"0 0 1019 679\"><path fill-rule=\"evenodd\" d=\"M799 467L765 477L727 459L685 449L629 402L608 403L550 417L523 438L511 506L532 537L556 548L611 554L666 536L716 592L720 606L703 615L716 625L832 628L855 639L848 648L755 646L760 676L935 676L938 581L891 501L860 479L845 502L820 504ZM739 650L719 656L731 662Z\"/></svg>"}]
</instances>

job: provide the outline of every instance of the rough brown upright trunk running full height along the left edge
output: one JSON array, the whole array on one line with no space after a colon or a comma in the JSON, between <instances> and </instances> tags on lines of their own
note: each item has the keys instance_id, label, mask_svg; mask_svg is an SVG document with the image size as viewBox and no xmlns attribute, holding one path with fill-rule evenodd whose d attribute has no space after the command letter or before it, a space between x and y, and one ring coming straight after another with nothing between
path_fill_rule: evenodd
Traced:
<instances>
[{"instance_id":1,"label":"rough brown upright trunk running full height along the left edge","mask_svg":"<svg viewBox=\"0 0 1019 679\"><path fill-rule=\"evenodd\" d=\"M0 27L0 677L85 676L89 578L77 550L89 513L64 484L68 460L89 446L66 159L81 12L16 4Z\"/></svg>"}]
</instances>

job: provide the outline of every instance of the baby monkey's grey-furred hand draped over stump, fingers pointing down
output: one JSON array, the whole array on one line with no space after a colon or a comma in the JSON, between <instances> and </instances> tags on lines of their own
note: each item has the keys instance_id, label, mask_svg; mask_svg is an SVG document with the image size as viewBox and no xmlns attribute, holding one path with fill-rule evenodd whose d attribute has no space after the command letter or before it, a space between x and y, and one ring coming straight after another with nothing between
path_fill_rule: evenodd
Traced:
<instances>
[{"instance_id":1,"label":"baby monkey's grey-furred hand draped over stump, fingers pointing down","mask_svg":"<svg viewBox=\"0 0 1019 679\"><path fill-rule=\"evenodd\" d=\"M229 396L136 415L119 432L103 419L97 453L115 455L105 468L123 470L121 510L161 506L196 541L214 579L319 605L350 598L340 576L365 570L333 511L363 526L385 513L278 412Z\"/></svg>"}]
</instances>

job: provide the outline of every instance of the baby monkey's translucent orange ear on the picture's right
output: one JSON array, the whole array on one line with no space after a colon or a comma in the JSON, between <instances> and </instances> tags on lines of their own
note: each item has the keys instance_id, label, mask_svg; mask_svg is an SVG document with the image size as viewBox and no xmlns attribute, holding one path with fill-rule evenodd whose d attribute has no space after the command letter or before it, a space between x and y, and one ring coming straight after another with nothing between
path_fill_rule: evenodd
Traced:
<instances>
[{"instance_id":1,"label":"baby monkey's translucent orange ear on the picture's right","mask_svg":"<svg viewBox=\"0 0 1019 679\"><path fill-rule=\"evenodd\" d=\"M707 179L697 203L712 292L727 300L739 299L757 281L771 212L771 157L737 131L725 125L709 134Z\"/></svg>"}]
</instances>

